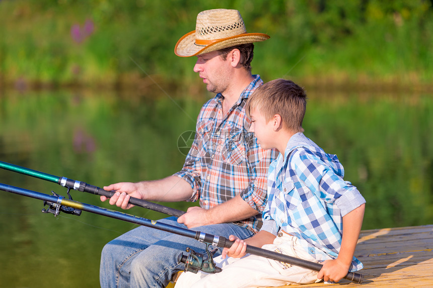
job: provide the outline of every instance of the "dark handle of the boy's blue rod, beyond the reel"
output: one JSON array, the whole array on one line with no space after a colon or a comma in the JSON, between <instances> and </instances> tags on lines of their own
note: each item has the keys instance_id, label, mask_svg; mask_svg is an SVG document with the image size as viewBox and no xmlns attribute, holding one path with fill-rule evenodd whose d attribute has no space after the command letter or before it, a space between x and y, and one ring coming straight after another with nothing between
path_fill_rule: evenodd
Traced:
<instances>
[{"instance_id":1,"label":"dark handle of the boy's blue rod, beyond the reel","mask_svg":"<svg viewBox=\"0 0 433 288\"><path fill-rule=\"evenodd\" d=\"M230 248L235 243L235 241L231 241L225 237L220 237L220 242L222 245L221 246L218 245L218 246L219 247L225 247L225 248ZM314 270L314 271L320 271L320 269L322 269L322 267L323 267L323 265L320 263L311 262L311 261L307 261L304 259L299 259L296 257L284 255L281 253L269 251L269 250L255 247L255 246L251 246L251 245L247 245L246 253L270 258L270 259L285 262L288 264L293 264L293 265L304 267L304 268ZM355 283L362 283L363 282L363 275L359 274L359 273L348 272L344 276L344 279L350 280L350 281L355 282Z\"/></svg>"}]
</instances>

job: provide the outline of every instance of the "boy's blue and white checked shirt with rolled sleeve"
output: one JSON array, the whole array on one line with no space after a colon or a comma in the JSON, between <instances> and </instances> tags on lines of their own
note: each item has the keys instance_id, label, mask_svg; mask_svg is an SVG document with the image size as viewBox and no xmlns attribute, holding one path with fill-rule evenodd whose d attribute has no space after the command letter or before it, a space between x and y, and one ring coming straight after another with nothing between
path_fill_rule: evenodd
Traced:
<instances>
[{"instance_id":1,"label":"boy's blue and white checked shirt with rolled sleeve","mask_svg":"<svg viewBox=\"0 0 433 288\"><path fill-rule=\"evenodd\" d=\"M318 261L334 259L341 247L342 216L366 201L343 180L337 156L325 153L304 134L292 136L284 155L269 166L261 230L276 235L282 229L299 238ZM350 271L362 268L353 257Z\"/></svg>"}]
</instances>

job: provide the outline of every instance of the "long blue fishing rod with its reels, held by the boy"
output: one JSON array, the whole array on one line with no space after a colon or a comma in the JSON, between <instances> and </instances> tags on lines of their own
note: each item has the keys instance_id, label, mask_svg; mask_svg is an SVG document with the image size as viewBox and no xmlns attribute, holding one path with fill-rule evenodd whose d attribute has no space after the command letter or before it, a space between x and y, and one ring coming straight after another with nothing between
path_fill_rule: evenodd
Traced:
<instances>
[{"instance_id":1,"label":"long blue fishing rod with its reels, held by the boy","mask_svg":"<svg viewBox=\"0 0 433 288\"><path fill-rule=\"evenodd\" d=\"M205 243L206 244L206 249L205 249L206 255L196 253L195 251L193 251L192 249L189 249L189 248L187 248L187 250L186 250L187 252L190 252L189 255L183 255L183 254L179 255L178 261L179 261L179 263L181 263L181 262L185 263L185 271L192 271L195 273L198 270L202 270L202 271L208 272L208 273L216 273L216 272L221 271L221 268L216 267L215 263L213 262L213 259L212 259L212 255L216 250L209 251L208 248L210 245L230 248L232 246L232 244L234 243L234 241L230 241L229 239L227 239L223 236L215 236L215 235L203 233L200 231L192 231L189 229L176 227L176 226L172 226L169 224L160 223L157 221L152 221L152 220L149 220L146 218L141 218L141 217L121 213L118 211L108 210L108 209L101 208L98 206L93 206L93 205L65 199L64 197L56 195L54 192L53 192L53 196L50 196L47 194L43 194L43 193L39 193L36 191L32 191L32 190L28 190L28 189L24 189L24 188L19 188L19 187L15 187L15 186L11 186L11 185L6 185L3 183L0 183L0 190L4 190L4 191L10 192L10 193L14 193L14 194L18 194L18 195L22 195L22 196L26 196L26 197L30 197L30 198L43 200L44 206L49 205L50 208L48 211L44 209L44 210L42 210L42 212L52 213L52 214L54 214L54 216L57 216L60 212L73 214L73 213L71 213L71 211L69 209L66 209L68 207L68 208L71 208L73 210L74 209L83 210L83 211L91 212L94 214L99 214L99 215L107 216L110 218L134 223L134 224L159 229L162 231L166 231L166 232L178 234L181 236L193 238L197 241ZM301 266L301 267L304 267L304 268L307 268L310 270L314 270L314 271L320 271L320 269L322 268L322 264L320 264L320 263L311 262L311 261L307 261L307 260L303 260L303 259L298 259L296 257L280 254L277 252L272 252L272 251L265 250L265 249L255 247L255 246L247 245L246 252L250 253L250 254L270 258L273 260L289 263L292 265ZM361 283L363 280L363 275L359 274L359 273L348 272L344 278L347 280L356 282L356 283Z\"/></svg>"}]
</instances>

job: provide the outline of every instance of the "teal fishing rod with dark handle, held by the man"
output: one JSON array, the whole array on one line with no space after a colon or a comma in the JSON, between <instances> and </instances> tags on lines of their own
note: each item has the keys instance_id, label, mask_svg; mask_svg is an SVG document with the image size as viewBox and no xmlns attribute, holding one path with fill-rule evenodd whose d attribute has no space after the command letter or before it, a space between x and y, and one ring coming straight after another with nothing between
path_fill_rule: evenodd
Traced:
<instances>
[{"instance_id":1,"label":"teal fishing rod with dark handle, held by the man","mask_svg":"<svg viewBox=\"0 0 433 288\"><path fill-rule=\"evenodd\" d=\"M3 162L3 161L0 161L0 168L3 168L5 170L18 172L18 173L32 176L35 178L39 178L42 180L57 183L57 184L67 188L68 196L69 196L69 190L70 189L79 190L82 192L87 192L87 193L91 193L91 194L95 194L95 195L105 196L107 198L111 198L115 193L114 191L107 191L107 190L104 190L100 187L89 185L86 182L72 180L72 179L68 179L66 177L54 176L51 174L39 172L39 171L36 171L33 169L21 167L21 166L7 163L7 162ZM70 196L69 196L69 199L71 200ZM146 208L146 209L150 209L153 211L161 212L161 213L164 213L164 214L167 214L170 216L175 216L175 217L180 217L181 215L185 214L184 211L177 210L177 209L170 208L170 207L166 207L166 206L163 206L160 204L148 202L148 201L141 200L141 199L134 198L134 197L131 197L129 199L129 203L136 205L136 206Z\"/></svg>"}]
</instances>

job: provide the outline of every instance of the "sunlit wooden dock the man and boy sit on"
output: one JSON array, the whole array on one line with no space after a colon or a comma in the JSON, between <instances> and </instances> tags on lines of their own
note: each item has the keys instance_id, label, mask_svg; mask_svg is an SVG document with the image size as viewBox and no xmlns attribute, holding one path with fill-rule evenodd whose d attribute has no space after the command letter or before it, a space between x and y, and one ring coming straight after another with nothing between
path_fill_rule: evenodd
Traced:
<instances>
[{"instance_id":1,"label":"sunlit wooden dock the man and boy sit on","mask_svg":"<svg viewBox=\"0 0 433 288\"><path fill-rule=\"evenodd\" d=\"M433 225L363 230L355 257L364 264L362 284L341 280L295 287L433 287Z\"/></svg>"}]
</instances>

